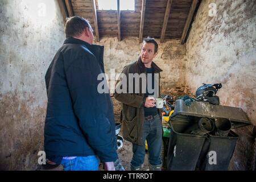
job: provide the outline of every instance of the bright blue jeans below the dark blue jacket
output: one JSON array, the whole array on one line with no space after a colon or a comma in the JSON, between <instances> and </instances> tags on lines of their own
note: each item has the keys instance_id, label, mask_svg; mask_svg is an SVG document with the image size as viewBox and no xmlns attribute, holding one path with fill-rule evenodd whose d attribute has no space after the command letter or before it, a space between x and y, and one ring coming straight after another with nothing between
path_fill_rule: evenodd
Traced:
<instances>
[{"instance_id":1,"label":"bright blue jeans below the dark blue jacket","mask_svg":"<svg viewBox=\"0 0 256 182\"><path fill-rule=\"evenodd\" d=\"M77 157L75 159L62 159L64 171L98 171L100 159L96 155Z\"/></svg>"}]
</instances>

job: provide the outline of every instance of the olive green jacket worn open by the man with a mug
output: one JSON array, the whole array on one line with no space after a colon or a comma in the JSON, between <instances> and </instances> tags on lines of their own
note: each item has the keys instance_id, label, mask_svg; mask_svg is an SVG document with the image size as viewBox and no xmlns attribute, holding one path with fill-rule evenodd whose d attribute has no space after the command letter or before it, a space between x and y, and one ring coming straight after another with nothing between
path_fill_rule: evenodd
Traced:
<instances>
[{"instance_id":1,"label":"olive green jacket worn open by the man with a mug","mask_svg":"<svg viewBox=\"0 0 256 182\"><path fill-rule=\"evenodd\" d=\"M154 62L152 62L152 68L154 68L154 73L159 73L159 77L157 81L160 83L160 72L162 72L162 69L160 69ZM146 74L146 67L141 61L141 58L139 58L138 61L135 61L132 64L127 65L125 68L123 68L122 71L123 74L126 75L127 80L129 77L129 73L138 73L139 75L141 73ZM156 78L157 79L157 78ZM146 81L146 80L144 80ZM120 84L121 81L119 80L115 86L116 90L118 88L118 84ZM129 93L129 84L127 81L127 93L117 93L115 91L114 97L117 101L122 103L122 111L121 111L121 117L120 121L122 123L122 134L123 138L125 138L127 141L136 143L140 146L143 145L142 135L143 135L143 122L144 122L144 104L146 101L146 98L144 98L144 93L142 93L142 80L139 81L139 93ZM159 85L159 94L160 95L160 84ZM135 88L135 86L133 86ZM161 115L159 110L159 115ZM161 117L160 117L161 118Z\"/></svg>"}]
</instances>

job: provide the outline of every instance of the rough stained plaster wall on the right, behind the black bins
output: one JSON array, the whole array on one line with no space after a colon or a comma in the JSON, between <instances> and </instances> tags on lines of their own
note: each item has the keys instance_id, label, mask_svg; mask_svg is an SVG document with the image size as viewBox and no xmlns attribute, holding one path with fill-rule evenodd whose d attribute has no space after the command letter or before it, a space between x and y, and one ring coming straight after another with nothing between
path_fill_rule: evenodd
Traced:
<instances>
[{"instance_id":1,"label":"rough stained plaster wall on the right, behind the black bins","mask_svg":"<svg viewBox=\"0 0 256 182\"><path fill-rule=\"evenodd\" d=\"M208 16L216 3L217 16ZM221 82L221 105L241 107L256 125L256 5L255 1L201 1L187 41L186 86L195 94L204 83ZM240 135L230 169L250 169L252 127ZM254 154L255 155L255 154Z\"/></svg>"}]
</instances>

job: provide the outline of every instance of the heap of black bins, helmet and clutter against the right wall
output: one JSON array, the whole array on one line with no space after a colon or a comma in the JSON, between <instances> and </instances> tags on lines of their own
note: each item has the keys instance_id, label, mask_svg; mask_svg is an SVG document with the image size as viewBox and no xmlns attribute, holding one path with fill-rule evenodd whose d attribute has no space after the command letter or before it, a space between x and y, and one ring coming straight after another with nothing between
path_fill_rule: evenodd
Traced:
<instances>
[{"instance_id":1,"label":"heap of black bins, helmet and clutter against the right wall","mask_svg":"<svg viewBox=\"0 0 256 182\"><path fill-rule=\"evenodd\" d=\"M203 84L196 97L167 94L163 107L163 169L179 171L228 170L238 135L250 125L238 107L222 106L216 96L222 84ZM147 147L147 146L146 146Z\"/></svg>"}]
</instances>

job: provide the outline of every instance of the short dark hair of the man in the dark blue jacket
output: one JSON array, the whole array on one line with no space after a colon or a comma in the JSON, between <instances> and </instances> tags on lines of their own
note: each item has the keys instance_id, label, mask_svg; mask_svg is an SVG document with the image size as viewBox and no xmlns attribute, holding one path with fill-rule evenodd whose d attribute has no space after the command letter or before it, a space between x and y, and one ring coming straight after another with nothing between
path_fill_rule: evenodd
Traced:
<instances>
[{"instance_id":1,"label":"short dark hair of the man in the dark blue jacket","mask_svg":"<svg viewBox=\"0 0 256 182\"><path fill-rule=\"evenodd\" d=\"M67 22L65 24L66 37L68 38L69 36L81 36L85 28L92 28L88 20L81 18L80 16L67 18Z\"/></svg>"}]
</instances>

